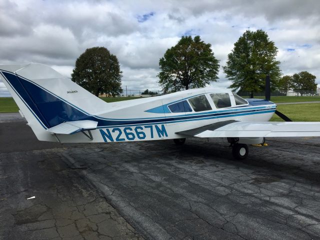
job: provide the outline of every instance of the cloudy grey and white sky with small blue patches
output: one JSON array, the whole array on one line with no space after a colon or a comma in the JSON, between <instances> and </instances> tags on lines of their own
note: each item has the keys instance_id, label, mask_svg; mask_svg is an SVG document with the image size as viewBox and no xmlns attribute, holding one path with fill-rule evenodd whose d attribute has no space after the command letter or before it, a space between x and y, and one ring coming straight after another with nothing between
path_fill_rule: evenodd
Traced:
<instances>
[{"instance_id":1,"label":"cloudy grey and white sky with small blue patches","mask_svg":"<svg viewBox=\"0 0 320 240\"><path fill-rule=\"evenodd\" d=\"M0 0L0 64L39 62L70 77L86 48L105 46L122 87L157 90L159 58L182 35L200 35L224 65L245 30L263 29L283 74L307 70L320 83L319 18L318 0ZM222 69L211 85L230 85Z\"/></svg>"}]
</instances>

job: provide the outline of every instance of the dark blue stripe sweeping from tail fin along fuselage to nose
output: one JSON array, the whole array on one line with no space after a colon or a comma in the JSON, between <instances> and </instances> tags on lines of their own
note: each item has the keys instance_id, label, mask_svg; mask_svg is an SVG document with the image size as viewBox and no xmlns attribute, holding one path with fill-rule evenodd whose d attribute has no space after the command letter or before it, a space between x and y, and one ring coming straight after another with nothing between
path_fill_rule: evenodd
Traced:
<instances>
[{"instance_id":1,"label":"dark blue stripe sweeping from tail fin along fuselage to nose","mask_svg":"<svg viewBox=\"0 0 320 240\"><path fill-rule=\"evenodd\" d=\"M133 119L112 119L103 118L83 111L73 104L65 101L61 97L44 89L36 83L17 76L14 73L2 71L11 87L18 93L31 111L37 116L37 120L44 128L49 128L65 121L74 120L94 120L98 122L98 127L105 126L126 126L126 125L143 125L155 123L183 122L191 120L202 120L211 118L220 118L236 115L258 114L265 112L274 112L275 107L270 105L228 108L218 111L198 112L170 117L153 117L153 118L133 118ZM44 126L44 125L45 126Z\"/></svg>"}]
</instances>

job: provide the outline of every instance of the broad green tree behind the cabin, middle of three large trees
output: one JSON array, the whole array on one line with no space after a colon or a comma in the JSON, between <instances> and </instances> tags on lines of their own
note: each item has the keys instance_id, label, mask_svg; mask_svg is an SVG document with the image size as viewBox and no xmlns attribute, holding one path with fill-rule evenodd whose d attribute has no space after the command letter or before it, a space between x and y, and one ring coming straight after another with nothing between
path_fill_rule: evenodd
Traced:
<instances>
[{"instance_id":1,"label":"broad green tree behind the cabin, middle of three large trees","mask_svg":"<svg viewBox=\"0 0 320 240\"><path fill-rule=\"evenodd\" d=\"M164 92L203 87L216 81L219 64L211 44L200 36L182 36L159 60L159 84Z\"/></svg>"}]
</instances>

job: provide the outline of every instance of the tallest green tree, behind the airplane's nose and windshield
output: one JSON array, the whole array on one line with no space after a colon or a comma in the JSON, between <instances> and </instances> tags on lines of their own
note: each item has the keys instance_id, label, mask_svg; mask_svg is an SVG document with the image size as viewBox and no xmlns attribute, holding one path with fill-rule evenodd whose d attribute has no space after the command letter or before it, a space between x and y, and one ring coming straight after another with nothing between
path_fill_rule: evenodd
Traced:
<instances>
[{"instance_id":1,"label":"tallest green tree, behind the airplane's nose and windshield","mask_svg":"<svg viewBox=\"0 0 320 240\"><path fill-rule=\"evenodd\" d=\"M223 70L232 81L230 88L254 91L265 88L265 76L270 75L271 89L275 89L281 76L279 61L275 60L277 47L265 31L246 30L234 43Z\"/></svg>"}]
</instances>

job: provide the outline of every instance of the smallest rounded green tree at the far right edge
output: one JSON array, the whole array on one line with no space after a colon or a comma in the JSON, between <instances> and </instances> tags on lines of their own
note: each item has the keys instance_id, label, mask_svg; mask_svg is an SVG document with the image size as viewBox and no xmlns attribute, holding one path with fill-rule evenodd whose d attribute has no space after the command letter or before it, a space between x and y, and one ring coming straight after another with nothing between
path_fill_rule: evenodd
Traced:
<instances>
[{"instance_id":1,"label":"smallest rounded green tree at the far right edge","mask_svg":"<svg viewBox=\"0 0 320 240\"><path fill-rule=\"evenodd\" d=\"M304 91L316 91L315 75L307 71L300 71L292 76L291 88L302 95Z\"/></svg>"}]
</instances>

